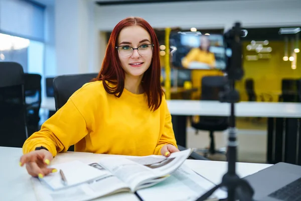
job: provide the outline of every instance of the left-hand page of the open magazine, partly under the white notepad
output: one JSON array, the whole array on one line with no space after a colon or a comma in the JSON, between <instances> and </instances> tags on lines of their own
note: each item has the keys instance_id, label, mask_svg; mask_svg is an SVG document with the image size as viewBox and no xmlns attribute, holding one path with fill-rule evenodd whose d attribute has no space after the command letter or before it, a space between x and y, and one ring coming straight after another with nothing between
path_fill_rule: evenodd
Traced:
<instances>
[{"instance_id":1,"label":"left-hand page of the open magazine, partly under the white notepad","mask_svg":"<svg viewBox=\"0 0 301 201\"><path fill-rule=\"evenodd\" d=\"M84 201L97 197L102 197L117 192L130 192L126 183L112 175L97 163L89 164L90 166L103 172L101 178L91 180L69 188L53 190L47 185L43 185L43 180L32 177L37 200L45 201Z\"/></svg>"}]
</instances>

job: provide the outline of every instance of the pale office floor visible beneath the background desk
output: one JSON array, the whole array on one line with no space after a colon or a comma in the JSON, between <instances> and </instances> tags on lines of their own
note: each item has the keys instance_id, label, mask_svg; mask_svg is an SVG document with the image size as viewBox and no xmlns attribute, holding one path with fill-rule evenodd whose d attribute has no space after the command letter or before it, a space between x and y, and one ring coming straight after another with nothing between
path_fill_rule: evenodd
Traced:
<instances>
[{"instance_id":1,"label":"pale office floor visible beneath the background desk","mask_svg":"<svg viewBox=\"0 0 301 201\"><path fill-rule=\"evenodd\" d=\"M237 140L239 162L266 162L267 125L266 119L237 118ZM215 132L216 148L226 147L227 131ZM209 146L209 132L199 131L198 134L192 127L187 128L187 147L206 148ZM225 161L223 154L209 155L211 160Z\"/></svg>"}]
</instances>

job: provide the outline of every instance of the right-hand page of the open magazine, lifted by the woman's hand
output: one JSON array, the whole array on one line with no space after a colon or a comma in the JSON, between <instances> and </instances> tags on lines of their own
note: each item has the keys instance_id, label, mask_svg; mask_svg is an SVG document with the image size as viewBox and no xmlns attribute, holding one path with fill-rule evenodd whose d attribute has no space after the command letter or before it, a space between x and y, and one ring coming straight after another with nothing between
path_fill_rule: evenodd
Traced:
<instances>
[{"instance_id":1,"label":"right-hand page of the open magazine, lifted by the woman's hand","mask_svg":"<svg viewBox=\"0 0 301 201\"><path fill-rule=\"evenodd\" d=\"M166 179L189 157L191 149L165 156L105 157L99 164L127 183L134 192Z\"/></svg>"}]
</instances>

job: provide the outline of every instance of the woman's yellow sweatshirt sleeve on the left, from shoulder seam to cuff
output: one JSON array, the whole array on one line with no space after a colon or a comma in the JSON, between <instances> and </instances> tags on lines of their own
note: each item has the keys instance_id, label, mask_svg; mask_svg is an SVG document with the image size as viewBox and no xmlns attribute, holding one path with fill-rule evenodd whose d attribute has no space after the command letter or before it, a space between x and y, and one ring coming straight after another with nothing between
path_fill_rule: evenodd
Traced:
<instances>
[{"instance_id":1,"label":"woman's yellow sweatshirt sleeve on the left, from shoulder seam to cuff","mask_svg":"<svg viewBox=\"0 0 301 201\"><path fill-rule=\"evenodd\" d=\"M49 118L41 130L32 134L23 145L23 153L34 151L36 147L47 148L53 156L67 151L87 135L86 121L74 105L72 99Z\"/></svg>"}]
</instances>

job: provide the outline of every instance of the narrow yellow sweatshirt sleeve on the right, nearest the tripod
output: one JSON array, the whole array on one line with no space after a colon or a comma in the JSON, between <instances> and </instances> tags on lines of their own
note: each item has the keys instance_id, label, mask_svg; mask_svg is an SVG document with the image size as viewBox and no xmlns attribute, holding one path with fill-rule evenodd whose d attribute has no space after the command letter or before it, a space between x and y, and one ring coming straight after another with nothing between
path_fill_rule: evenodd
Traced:
<instances>
[{"instance_id":1,"label":"narrow yellow sweatshirt sleeve on the right, nearest the tripod","mask_svg":"<svg viewBox=\"0 0 301 201\"><path fill-rule=\"evenodd\" d=\"M164 116L165 116L164 128L163 128L162 135L159 139L159 142L157 144L157 147L155 149L155 152L154 152L155 155L161 155L161 148L166 144L172 144L178 148L174 130L173 130L172 116L169 112L165 97L162 100L162 104L164 105L163 109L164 109Z\"/></svg>"}]
</instances>

